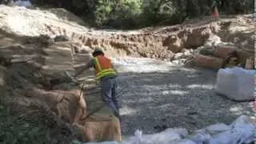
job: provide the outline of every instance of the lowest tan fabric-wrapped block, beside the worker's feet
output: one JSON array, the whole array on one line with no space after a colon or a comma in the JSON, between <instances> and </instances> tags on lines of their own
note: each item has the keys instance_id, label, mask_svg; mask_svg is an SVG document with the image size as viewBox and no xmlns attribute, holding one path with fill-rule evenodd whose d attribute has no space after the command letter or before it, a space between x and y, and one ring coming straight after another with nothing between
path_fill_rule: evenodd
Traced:
<instances>
[{"instance_id":1,"label":"lowest tan fabric-wrapped block, beside the worker's feet","mask_svg":"<svg viewBox=\"0 0 256 144\"><path fill-rule=\"evenodd\" d=\"M97 115L75 122L74 127L82 136L82 141L122 141L120 122L110 115Z\"/></svg>"}]
</instances>

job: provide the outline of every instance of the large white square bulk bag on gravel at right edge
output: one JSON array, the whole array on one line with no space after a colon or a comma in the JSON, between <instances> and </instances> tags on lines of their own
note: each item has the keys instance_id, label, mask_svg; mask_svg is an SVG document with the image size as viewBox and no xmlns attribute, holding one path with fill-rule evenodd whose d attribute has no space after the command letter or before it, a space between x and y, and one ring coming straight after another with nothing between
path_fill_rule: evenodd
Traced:
<instances>
[{"instance_id":1,"label":"large white square bulk bag on gravel at right edge","mask_svg":"<svg viewBox=\"0 0 256 144\"><path fill-rule=\"evenodd\" d=\"M254 100L255 70L240 67L218 70L216 91L235 101Z\"/></svg>"}]
</instances>

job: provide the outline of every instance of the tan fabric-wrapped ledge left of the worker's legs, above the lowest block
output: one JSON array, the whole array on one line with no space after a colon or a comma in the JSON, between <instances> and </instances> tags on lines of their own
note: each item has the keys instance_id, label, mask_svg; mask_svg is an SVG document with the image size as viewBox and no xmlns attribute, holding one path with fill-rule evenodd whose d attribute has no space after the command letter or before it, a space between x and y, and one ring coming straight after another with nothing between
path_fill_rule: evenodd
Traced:
<instances>
[{"instance_id":1,"label":"tan fabric-wrapped ledge left of the worker's legs, above the lowest block","mask_svg":"<svg viewBox=\"0 0 256 144\"><path fill-rule=\"evenodd\" d=\"M30 101L51 110L66 122L77 122L86 116L86 102L80 90L26 90Z\"/></svg>"}]
</instances>

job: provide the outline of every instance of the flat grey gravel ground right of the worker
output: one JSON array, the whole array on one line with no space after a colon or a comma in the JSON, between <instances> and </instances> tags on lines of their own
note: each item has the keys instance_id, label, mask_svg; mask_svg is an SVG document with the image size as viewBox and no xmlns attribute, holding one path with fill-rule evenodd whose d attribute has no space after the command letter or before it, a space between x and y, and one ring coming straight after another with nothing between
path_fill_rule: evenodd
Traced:
<instances>
[{"instance_id":1,"label":"flat grey gravel ground right of the worker","mask_svg":"<svg viewBox=\"0 0 256 144\"><path fill-rule=\"evenodd\" d=\"M192 70L150 59L117 61L123 90L122 134L151 134L167 127L200 129L254 115L249 102L233 102L214 92L217 72Z\"/></svg>"}]
</instances>

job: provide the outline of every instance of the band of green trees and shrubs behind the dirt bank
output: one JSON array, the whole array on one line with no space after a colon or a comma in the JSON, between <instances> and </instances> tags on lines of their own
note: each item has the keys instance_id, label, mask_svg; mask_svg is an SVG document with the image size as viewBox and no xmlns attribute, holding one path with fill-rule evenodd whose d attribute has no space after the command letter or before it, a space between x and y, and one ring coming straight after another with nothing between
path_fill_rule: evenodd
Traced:
<instances>
[{"instance_id":1,"label":"band of green trees and shrubs behind the dirt bank","mask_svg":"<svg viewBox=\"0 0 256 144\"><path fill-rule=\"evenodd\" d=\"M40 6L66 8L93 26L137 28L177 24L210 15L213 0L32 0ZM254 0L218 0L220 14L251 14ZM92 21L90 21L92 20Z\"/></svg>"}]
</instances>

